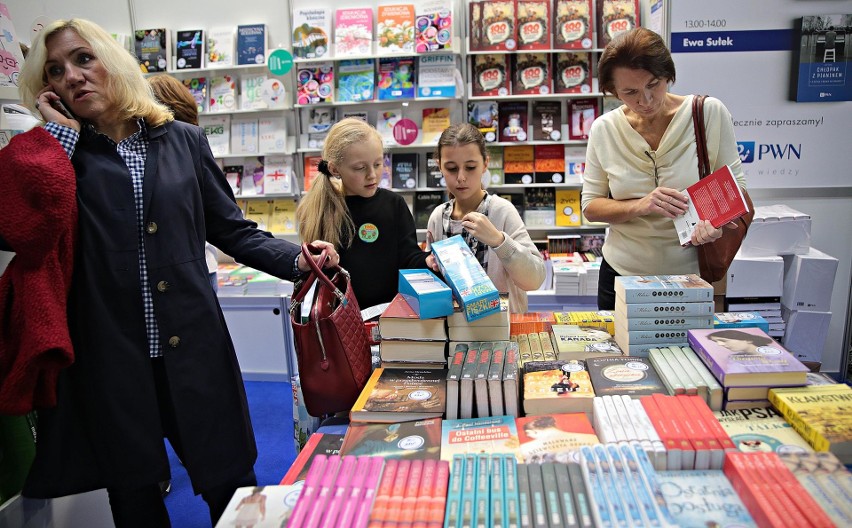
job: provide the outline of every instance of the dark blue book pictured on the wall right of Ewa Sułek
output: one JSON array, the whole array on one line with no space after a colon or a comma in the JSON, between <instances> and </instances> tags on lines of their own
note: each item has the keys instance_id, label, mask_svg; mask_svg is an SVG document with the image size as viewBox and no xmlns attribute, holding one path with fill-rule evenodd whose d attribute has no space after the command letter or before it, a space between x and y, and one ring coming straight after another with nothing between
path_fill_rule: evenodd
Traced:
<instances>
[{"instance_id":1,"label":"dark blue book pictured on the wall right of Ewa Su\u0142ek","mask_svg":"<svg viewBox=\"0 0 852 528\"><path fill-rule=\"evenodd\" d=\"M793 101L852 101L850 27L852 14L811 15L797 21L799 45L791 61Z\"/></svg>"}]
</instances>

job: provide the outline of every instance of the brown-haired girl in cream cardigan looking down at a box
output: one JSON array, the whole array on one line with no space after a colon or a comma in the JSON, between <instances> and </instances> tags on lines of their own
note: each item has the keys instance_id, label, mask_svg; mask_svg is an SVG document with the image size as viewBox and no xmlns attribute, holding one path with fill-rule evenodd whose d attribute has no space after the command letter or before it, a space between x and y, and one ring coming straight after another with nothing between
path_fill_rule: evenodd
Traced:
<instances>
[{"instance_id":1,"label":"brown-haired girl in cream cardigan looking down at a box","mask_svg":"<svg viewBox=\"0 0 852 528\"><path fill-rule=\"evenodd\" d=\"M526 292L544 281L544 259L515 206L483 188L485 138L473 125L453 125L441 134L435 158L451 199L432 211L430 237L461 235L497 290L509 293L509 309L526 312Z\"/></svg>"}]
</instances>

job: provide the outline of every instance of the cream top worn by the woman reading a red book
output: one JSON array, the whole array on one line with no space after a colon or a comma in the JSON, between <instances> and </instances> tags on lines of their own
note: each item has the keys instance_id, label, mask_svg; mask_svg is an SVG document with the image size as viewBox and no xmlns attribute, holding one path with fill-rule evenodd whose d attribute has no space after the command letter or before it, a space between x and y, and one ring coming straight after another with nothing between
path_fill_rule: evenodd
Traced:
<instances>
[{"instance_id":1,"label":"cream top worn by the woman reading a red book","mask_svg":"<svg viewBox=\"0 0 852 528\"><path fill-rule=\"evenodd\" d=\"M698 153L692 125L692 97L687 96L660 140L656 152L630 126L623 106L607 112L592 124L583 174L583 209L595 198L642 198L655 188L656 159L659 184L683 190L698 181ZM718 99L704 101L707 153L715 171L730 165L740 187L745 176L737 152L731 114ZM698 273L694 247L681 247L671 219L657 214L612 224L603 255L621 275Z\"/></svg>"}]
</instances>

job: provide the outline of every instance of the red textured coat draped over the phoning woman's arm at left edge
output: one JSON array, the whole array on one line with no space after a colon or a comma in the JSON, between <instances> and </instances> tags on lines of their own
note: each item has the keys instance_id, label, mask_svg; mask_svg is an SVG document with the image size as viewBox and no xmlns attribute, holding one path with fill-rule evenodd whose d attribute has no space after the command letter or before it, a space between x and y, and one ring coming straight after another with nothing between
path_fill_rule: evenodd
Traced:
<instances>
[{"instance_id":1,"label":"red textured coat draped over the phoning woman's arm at left edge","mask_svg":"<svg viewBox=\"0 0 852 528\"><path fill-rule=\"evenodd\" d=\"M74 362L76 189L68 154L43 128L0 150L0 239L16 252L0 277L0 414L55 406L59 371Z\"/></svg>"}]
</instances>

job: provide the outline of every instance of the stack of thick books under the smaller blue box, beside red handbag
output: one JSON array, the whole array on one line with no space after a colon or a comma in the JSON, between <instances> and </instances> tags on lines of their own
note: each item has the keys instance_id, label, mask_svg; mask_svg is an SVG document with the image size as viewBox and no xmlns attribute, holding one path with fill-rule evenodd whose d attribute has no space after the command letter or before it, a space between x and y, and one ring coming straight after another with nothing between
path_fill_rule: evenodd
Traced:
<instances>
[{"instance_id":1,"label":"stack of thick books under the smaller blue box, beside red handbag","mask_svg":"<svg viewBox=\"0 0 852 528\"><path fill-rule=\"evenodd\" d=\"M382 361L393 364L446 362L446 317L421 319L397 294L379 317L379 354Z\"/></svg>"}]
</instances>

